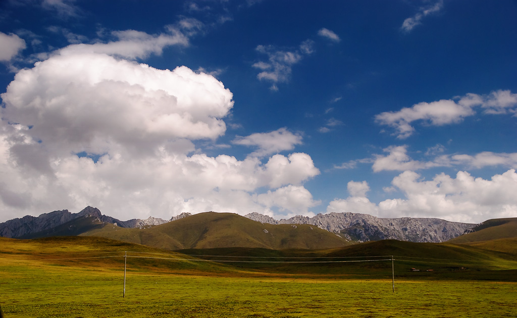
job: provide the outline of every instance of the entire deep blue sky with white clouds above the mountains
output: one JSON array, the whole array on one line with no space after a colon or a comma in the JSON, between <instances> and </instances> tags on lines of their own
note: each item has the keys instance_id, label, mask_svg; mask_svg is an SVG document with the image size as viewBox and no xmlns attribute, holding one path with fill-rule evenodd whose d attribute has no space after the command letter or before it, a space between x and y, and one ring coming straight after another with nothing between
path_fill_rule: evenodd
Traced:
<instances>
[{"instance_id":1,"label":"entire deep blue sky with white clouds above the mountains","mask_svg":"<svg viewBox=\"0 0 517 318\"><path fill-rule=\"evenodd\" d=\"M0 221L517 216L515 1L0 3Z\"/></svg>"}]
</instances>

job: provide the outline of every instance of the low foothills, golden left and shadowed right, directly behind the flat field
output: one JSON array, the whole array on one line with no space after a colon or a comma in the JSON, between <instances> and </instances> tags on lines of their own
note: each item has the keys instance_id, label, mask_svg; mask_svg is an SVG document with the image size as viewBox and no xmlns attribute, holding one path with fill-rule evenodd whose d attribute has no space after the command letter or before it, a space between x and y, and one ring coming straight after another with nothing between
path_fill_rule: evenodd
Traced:
<instances>
[{"instance_id":1,"label":"low foothills, golden left and shadowed right, directly behind the flat field","mask_svg":"<svg viewBox=\"0 0 517 318\"><path fill-rule=\"evenodd\" d=\"M0 254L13 256L20 264L32 266L69 266L114 268L123 265L123 252L128 251L132 270L172 271L174 273L209 273L223 276L301 275L334 277L387 277L391 262L298 263L300 261L355 261L390 259L394 255L399 276L410 278L453 279L517 279L517 254L488 251L475 246L452 243L413 243L396 240L373 241L343 248L325 250L271 250L263 248L217 248L168 252L145 245L121 242L101 237L51 237L34 240L0 238ZM115 254L113 254L115 252ZM73 253L73 254L72 254ZM77 254L84 253L84 254ZM187 254L187 255L185 255ZM104 258L101 256L118 256ZM197 257L191 255L218 255ZM369 257L382 256L383 257ZM386 257L386 255L388 257ZM100 257L82 259L81 257ZM159 259L138 258L160 257ZM221 257L234 256L234 257ZM238 257L235 257L238 256ZM246 257L245 257L246 256ZM68 258L78 258L70 260ZM261 257L261 258L258 258ZM304 257L304 258L290 258ZM322 258L324 257L324 258ZM62 259L67 258L67 259ZM162 259L165 258L165 259ZM192 260L190 260L192 259ZM215 262L195 261L210 259ZM217 261L232 261L217 263ZM233 261L261 261L271 263L240 263ZM286 261L289 263L276 263ZM0 267L2 267L0 262ZM409 273L409 268L434 269L432 273ZM464 270L455 272L463 268ZM418 276L415 276L418 275ZM431 276L430 276L431 275ZM510 276L509 276L510 275Z\"/></svg>"}]
</instances>

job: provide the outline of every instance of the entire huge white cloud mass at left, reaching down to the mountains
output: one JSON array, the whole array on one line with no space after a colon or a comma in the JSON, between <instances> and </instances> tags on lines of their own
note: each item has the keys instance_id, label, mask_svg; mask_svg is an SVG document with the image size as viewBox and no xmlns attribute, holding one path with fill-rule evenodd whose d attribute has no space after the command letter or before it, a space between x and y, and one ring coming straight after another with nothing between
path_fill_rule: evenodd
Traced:
<instances>
[{"instance_id":1,"label":"entire huge white cloud mass at left, reaching down to the mountains","mask_svg":"<svg viewBox=\"0 0 517 318\"><path fill-rule=\"evenodd\" d=\"M233 107L232 93L214 77L76 48L19 71L2 94L3 219L87 205L120 219L208 210L310 214L316 202L302 183L320 172L309 155L263 163L195 151L193 140L225 133ZM294 139L254 144L270 153L300 142L286 129L277 133Z\"/></svg>"}]
</instances>

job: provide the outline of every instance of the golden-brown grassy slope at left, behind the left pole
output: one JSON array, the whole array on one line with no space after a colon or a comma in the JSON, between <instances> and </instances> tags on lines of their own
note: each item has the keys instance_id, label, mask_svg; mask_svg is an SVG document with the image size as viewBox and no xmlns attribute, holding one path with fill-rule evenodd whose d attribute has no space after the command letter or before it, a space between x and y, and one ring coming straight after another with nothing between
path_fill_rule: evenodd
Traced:
<instances>
[{"instance_id":1,"label":"golden-brown grassy slope at left, behind the left pole","mask_svg":"<svg viewBox=\"0 0 517 318\"><path fill-rule=\"evenodd\" d=\"M234 275L239 274L240 270L226 264L199 262L195 257L146 245L101 237L72 236L32 240L0 237L0 272L9 266L50 268L51 271L79 266L83 269L119 271L124 268L125 252L128 252L131 271Z\"/></svg>"}]
</instances>

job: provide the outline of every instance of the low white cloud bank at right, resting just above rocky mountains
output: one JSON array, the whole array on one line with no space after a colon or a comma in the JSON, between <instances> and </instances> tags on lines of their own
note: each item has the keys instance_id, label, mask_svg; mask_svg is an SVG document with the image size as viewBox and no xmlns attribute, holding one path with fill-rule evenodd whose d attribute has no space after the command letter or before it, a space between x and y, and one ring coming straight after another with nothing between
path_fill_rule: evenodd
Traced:
<instances>
[{"instance_id":1,"label":"low white cloud bank at right, resting just above rocky mountains","mask_svg":"<svg viewBox=\"0 0 517 318\"><path fill-rule=\"evenodd\" d=\"M436 218L478 223L512 217L517 213L517 173L510 169L490 180L459 171L456 178L439 174L426 181L414 171L393 178L392 185L404 198L387 199L375 205L363 193L335 199L328 212L355 211L384 217Z\"/></svg>"}]
</instances>

